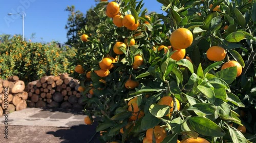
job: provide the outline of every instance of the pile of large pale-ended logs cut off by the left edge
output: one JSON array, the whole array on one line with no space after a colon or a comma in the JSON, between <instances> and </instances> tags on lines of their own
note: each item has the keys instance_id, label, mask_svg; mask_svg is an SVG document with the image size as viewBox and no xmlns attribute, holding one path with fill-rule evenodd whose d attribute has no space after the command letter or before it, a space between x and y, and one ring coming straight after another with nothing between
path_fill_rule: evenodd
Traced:
<instances>
[{"instance_id":1,"label":"pile of large pale-ended logs cut off by the left edge","mask_svg":"<svg viewBox=\"0 0 256 143\"><path fill-rule=\"evenodd\" d=\"M4 111L10 113L27 107L28 93L24 90L25 83L18 76L10 76L7 80L0 79L0 116Z\"/></svg>"}]
</instances>

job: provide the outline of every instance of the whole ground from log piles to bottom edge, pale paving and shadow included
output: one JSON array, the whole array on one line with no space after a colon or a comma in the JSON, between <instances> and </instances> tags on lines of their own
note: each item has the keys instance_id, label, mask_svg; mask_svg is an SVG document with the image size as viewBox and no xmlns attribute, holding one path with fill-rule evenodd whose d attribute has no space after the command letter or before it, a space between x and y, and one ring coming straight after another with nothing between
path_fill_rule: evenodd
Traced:
<instances>
[{"instance_id":1,"label":"whole ground from log piles to bottom edge, pale paving and shadow included","mask_svg":"<svg viewBox=\"0 0 256 143\"><path fill-rule=\"evenodd\" d=\"M8 139L5 116L0 118L0 143L10 142L90 142L98 143L97 122L84 124L83 111L26 108L8 115Z\"/></svg>"}]
</instances>

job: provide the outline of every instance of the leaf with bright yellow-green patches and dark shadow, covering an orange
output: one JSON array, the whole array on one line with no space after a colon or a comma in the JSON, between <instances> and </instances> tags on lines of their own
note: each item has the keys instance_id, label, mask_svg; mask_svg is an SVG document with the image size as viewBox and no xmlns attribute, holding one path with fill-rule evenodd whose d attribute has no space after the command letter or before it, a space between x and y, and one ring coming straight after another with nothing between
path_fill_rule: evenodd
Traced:
<instances>
[{"instance_id":1,"label":"leaf with bright yellow-green patches and dark shadow, covering an orange","mask_svg":"<svg viewBox=\"0 0 256 143\"><path fill-rule=\"evenodd\" d=\"M168 105L152 104L150 106L150 113L155 117L164 117L169 112L170 110Z\"/></svg>"}]
</instances>

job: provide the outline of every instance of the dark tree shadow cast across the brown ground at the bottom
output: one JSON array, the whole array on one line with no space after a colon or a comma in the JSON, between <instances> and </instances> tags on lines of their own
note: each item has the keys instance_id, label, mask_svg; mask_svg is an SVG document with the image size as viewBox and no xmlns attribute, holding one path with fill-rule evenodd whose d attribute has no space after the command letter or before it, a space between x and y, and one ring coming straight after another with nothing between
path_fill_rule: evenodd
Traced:
<instances>
[{"instance_id":1,"label":"dark tree shadow cast across the brown ground at the bottom","mask_svg":"<svg viewBox=\"0 0 256 143\"><path fill-rule=\"evenodd\" d=\"M96 133L97 123L93 125L78 125L71 128L63 128L56 131L48 131L47 134L51 134L61 139L61 143L100 143L98 140L99 133Z\"/></svg>"}]
</instances>

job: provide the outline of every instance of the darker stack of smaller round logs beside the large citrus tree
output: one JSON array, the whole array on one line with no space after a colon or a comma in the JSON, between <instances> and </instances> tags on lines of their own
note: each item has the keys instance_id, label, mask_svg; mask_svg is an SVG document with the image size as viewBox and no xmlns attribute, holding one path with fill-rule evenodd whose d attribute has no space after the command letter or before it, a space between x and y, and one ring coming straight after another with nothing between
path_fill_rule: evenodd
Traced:
<instances>
[{"instance_id":1,"label":"darker stack of smaller round logs beside the large citrus tree","mask_svg":"<svg viewBox=\"0 0 256 143\"><path fill-rule=\"evenodd\" d=\"M83 108L79 81L68 74L44 76L28 83L28 107Z\"/></svg>"}]
</instances>

